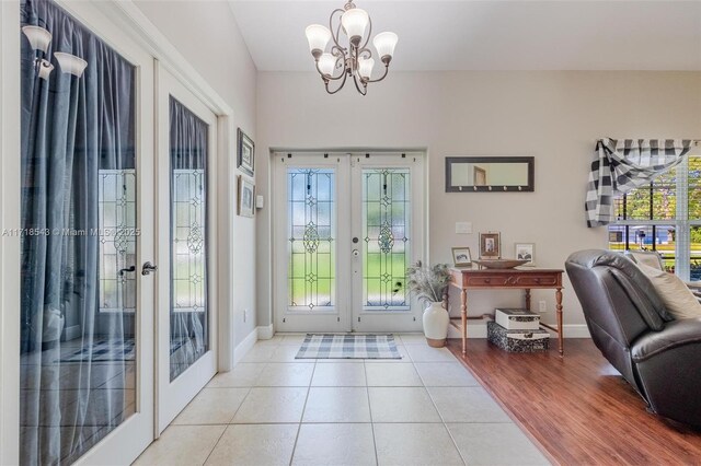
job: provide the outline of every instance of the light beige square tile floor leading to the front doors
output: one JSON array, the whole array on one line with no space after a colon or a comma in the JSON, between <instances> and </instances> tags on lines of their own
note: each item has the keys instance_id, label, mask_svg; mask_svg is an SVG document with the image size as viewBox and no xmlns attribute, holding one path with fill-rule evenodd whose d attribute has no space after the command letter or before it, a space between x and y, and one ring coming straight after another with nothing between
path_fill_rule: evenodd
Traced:
<instances>
[{"instance_id":1,"label":"light beige square tile floor leading to the front doors","mask_svg":"<svg viewBox=\"0 0 701 466\"><path fill-rule=\"evenodd\" d=\"M136 465L531 465L545 457L445 348L397 335L401 360L295 360L260 341Z\"/></svg>"}]
</instances>

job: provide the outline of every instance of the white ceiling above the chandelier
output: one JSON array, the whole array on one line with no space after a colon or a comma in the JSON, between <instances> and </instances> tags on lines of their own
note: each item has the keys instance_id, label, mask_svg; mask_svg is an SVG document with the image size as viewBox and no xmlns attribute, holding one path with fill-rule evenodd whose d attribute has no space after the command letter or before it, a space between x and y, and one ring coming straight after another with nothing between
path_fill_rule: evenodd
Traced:
<instances>
[{"instance_id":1,"label":"white ceiling above the chandelier","mask_svg":"<svg viewBox=\"0 0 701 466\"><path fill-rule=\"evenodd\" d=\"M304 27L343 0L229 0L262 71L311 71ZM701 1L356 0L395 70L701 70Z\"/></svg>"}]
</instances>

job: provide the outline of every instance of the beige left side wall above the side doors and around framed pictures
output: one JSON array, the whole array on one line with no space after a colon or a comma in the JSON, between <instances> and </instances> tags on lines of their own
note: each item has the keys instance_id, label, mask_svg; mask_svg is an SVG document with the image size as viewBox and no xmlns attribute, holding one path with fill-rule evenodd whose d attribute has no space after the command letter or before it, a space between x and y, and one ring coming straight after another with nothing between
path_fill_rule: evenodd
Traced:
<instances>
[{"instance_id":1,"label":"beige left side wall above the side doors and around framed pictures","mask_svg":"<svg viewBox=\"0 0 701 466\"><path fill-rule=\"evenodd\" d=\"M202 78L233 108L233 126L241 127L255 140L256 69L229 5L225 1L137 1L137 7L177 48ZM234 206L228 228L233 231L232 244L222 241L219 260L232 247L231 277L219 281L232 291L229 303L232 315L234 346L255 329L255 220L235 214L235 135L225 156L231 172L221 176L220 193ZM225 186L229 185L229 186ZM221 294L220 294L221 296ZM221 301L220 301L221 302ZM250 310L243 322L243 311Z\"/></svg>"}]
</instances>

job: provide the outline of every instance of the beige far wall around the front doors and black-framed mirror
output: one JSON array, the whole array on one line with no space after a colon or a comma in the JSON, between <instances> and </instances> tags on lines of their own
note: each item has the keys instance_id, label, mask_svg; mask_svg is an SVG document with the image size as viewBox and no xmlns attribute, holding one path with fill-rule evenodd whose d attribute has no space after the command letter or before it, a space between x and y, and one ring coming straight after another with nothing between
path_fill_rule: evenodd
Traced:
<instances>
[{"instance_id":1,"label":"beige far wall around the front doors and black-framed mirror","mask_svg":"<svg viewBox=\"0 0 701 466\"><path fill-rule=\"evenodd\" d=\"M348 88L346 85L346 88ZM269 148L426 148L429 159L430 260L450 247L476 256L478 232L536 243L539 267L563 268L574 251L606 247L604 229L587 229L584 195L595 140L701 137L699 72L415 72L390 73L358 95L353 85L326 95L312 73L261 72L257 85L258 193L269 201ZM448 155L532 155L531 194L446 194ZM258 325L271 322L271 211L257 217ZM455 234L470 221L473 234ZM566 282L565 324L583 324ZM553 321L552 293L547 300ZM471 294L471 314L517 305L517 292ZM579 328L581 329L581 328Z\"/></svg>"}]
</instances>

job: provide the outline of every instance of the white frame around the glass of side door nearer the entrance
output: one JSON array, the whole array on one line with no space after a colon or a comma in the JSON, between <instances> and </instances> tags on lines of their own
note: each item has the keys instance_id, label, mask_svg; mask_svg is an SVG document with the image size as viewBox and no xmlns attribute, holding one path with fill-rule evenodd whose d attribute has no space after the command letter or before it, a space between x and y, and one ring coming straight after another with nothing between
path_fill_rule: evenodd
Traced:
<instances>
[{"instance_id":1,"label":"white frame around the glass of side door nearer the entrance","mask_svg":"<svg viewBox=\"0 0 701 466\"><path fill-rule=\"evenodd\" d=\"M156 60L157 83L157 234L171 237L171 163L170 163L170 110L173 96L208 126L207 132L207 308L208 350L175 380L170 380L170 311L171 311L171 242L159 241L157 245L158 317L157 317L157 436L175 419L180 411L217 373L217 115L197 95L182 84L170 71ZM168 205L168 208L164 206Z\"/></svg>"}]
</instances>

